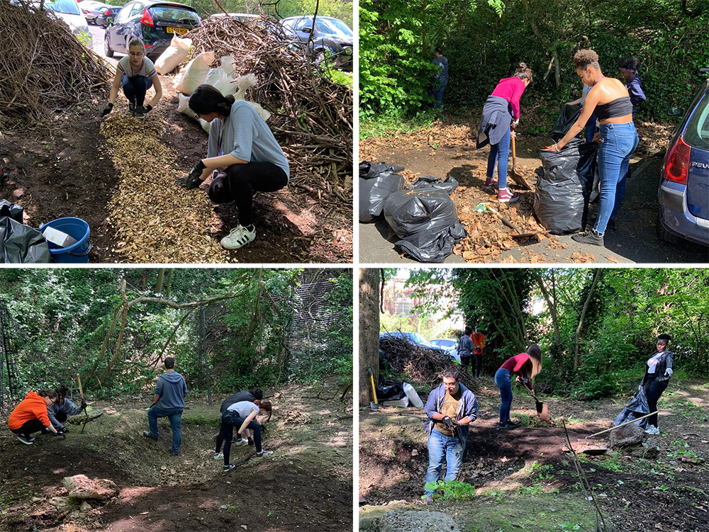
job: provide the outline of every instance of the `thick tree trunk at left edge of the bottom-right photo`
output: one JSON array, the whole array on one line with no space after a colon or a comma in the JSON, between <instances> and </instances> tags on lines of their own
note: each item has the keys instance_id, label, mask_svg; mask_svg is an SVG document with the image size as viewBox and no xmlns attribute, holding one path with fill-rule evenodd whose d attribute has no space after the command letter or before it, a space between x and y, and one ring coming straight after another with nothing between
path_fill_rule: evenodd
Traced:
<instances>
[{"instance_id":1,"label":"thick tree trunk at left edge of the bottom-right photo","mask_svg":"<svg viewBox=\"0 0 709 532\"><path fill-rule=\"evenodd\" d=\"M369 366L374 382L379 379L379 270L359 268L359 404L374 400Z\"/></svg>"}]
</instances>

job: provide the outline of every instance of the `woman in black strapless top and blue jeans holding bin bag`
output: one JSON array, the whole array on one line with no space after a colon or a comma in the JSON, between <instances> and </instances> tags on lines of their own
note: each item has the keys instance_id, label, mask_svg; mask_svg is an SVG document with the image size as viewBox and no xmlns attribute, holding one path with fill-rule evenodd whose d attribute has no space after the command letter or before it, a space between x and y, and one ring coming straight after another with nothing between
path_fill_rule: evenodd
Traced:
<instances>
[{"instance_id":1,"label":"woman in black strapless top and blue jeans holding bin bag","mask_svg":"<svg viewBox=\"0 0 709 532\"><path fill-rule=\"evenodd\" d=\"M625 85L618 79L607 78L598 64L598 54L593 50L579 50L574 55L576 74L591 87L588 91L579 120L571 126L554 146L548 149L560 152L566 144L579 135L588 118L595 113L601 122L601 147L598 149L598 173L601 177L601 203L598 217L591 231L574 234L576 242L603 246L603 233L613 213L615 203L620 205L625 194L625 176L630 156L635 152L638 137L632 123L632 104Z\"/></svg>"}]
</instances>

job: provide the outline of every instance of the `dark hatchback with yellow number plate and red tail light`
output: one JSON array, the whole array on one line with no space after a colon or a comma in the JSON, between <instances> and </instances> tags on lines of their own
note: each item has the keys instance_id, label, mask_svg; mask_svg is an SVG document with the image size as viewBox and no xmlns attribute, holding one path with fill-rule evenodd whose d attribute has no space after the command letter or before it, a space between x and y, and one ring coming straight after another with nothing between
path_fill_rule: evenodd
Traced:
<instances>
[{"instance_id":1,"label":"dark hatchback with yellow number plate and red tail light","mask_svg":"<svg viewBox=\"0 0 709 532\"><path fill-rule=\"evenodd\" d=\"M138 37L145 43L145 55L157 59L169 47L175 33L182 35L201 24L194 7L174 2L129 2L113 20L108 18L104 55L127 54L128 43Z\"/></svg>"}]
</instances>

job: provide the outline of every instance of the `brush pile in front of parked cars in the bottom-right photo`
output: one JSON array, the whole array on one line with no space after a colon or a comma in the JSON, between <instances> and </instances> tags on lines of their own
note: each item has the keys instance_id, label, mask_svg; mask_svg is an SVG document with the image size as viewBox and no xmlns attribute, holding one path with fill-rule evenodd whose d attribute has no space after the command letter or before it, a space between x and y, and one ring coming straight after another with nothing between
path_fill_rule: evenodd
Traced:
<instances>
[{"instance_id":1,"label":"brush pile in front of parked cars in the bottom-right photo","mask_svg":"<svg viewBox=\"0 0 709 532\"><path fill-rule=\"evenodd\" d=\"M380 338L379 351L384 353L391 369L397 373L406 373L408 378L418 383L440 384L440 374L454 366L449 358L441 356L440 351L411 344L403 338ZM466 385L473 381L466 370L460 369L460 373Z\"/></svg>"}]
</instances>

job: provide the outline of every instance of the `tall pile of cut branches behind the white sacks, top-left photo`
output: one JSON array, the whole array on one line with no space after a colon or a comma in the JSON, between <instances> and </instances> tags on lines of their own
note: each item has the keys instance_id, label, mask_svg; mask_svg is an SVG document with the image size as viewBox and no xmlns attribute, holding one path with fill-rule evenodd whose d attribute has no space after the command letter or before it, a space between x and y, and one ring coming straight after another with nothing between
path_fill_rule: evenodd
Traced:
<instances>
[{"instance_id":1,"label":"tall pile of cut branches behind the white sacks, top-left photo","mask_svg":"<svg viewBox=\"0 0 709 532\"><path fill-rule=\"evenodd\" d=\"M272 113L269 126L286 152L291 184L352 207L352 87L330 81L301 49L291 49L281 27L267 18L242 23L214 17L192 30L192 55L233 55L237 76L253 73L248 99ZM191 59L188 57L188 60Z\"/></svg>"}]
</instances>

